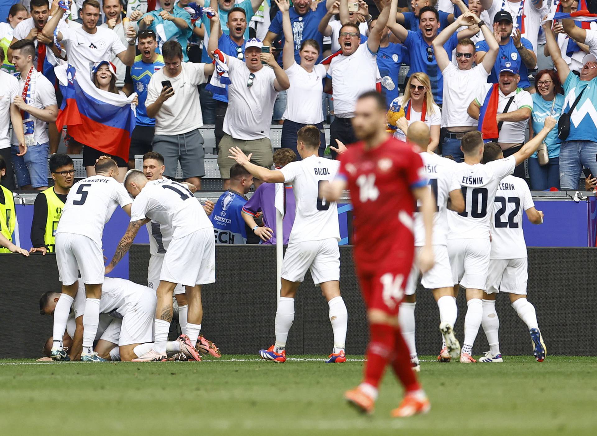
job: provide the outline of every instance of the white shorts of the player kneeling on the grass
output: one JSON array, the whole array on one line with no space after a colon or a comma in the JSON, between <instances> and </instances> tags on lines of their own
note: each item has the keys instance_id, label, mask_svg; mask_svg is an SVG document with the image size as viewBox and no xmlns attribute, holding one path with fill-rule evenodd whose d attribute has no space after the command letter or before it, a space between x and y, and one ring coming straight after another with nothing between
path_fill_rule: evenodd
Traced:
<instances>
[{"instance_id":1,"label":"white shorts of the player kneeling on the grass","mask_svg":"<svg viewBox=\"0 0 597 436\"><path fill-rule=\"evenodd\" d=\"M155 291L146 287L139 300L127 302L127 309L122 314L119 347L153 342L156 301Z\"/></svg>"}]
</instances>

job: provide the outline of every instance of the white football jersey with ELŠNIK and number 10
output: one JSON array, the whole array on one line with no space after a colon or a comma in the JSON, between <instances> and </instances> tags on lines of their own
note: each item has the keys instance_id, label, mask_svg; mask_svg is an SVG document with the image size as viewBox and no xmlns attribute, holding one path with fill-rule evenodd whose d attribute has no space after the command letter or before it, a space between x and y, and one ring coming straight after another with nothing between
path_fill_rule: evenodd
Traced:
<instances>
[{"instance_id":1,"label":"white football jersey with EL\u0160NIK and number 10","mask_svg":"<svg viewBox=\"0 0 597 436\"><path fill-rule=\"evenodd\" d=\"M491 211L497 185L514 172L514 156L485 164L469 165L465 162L454 166L454 174L462 188L464 212L448 211L448 239L489 239Z\"/></svg>"}]
</instances>

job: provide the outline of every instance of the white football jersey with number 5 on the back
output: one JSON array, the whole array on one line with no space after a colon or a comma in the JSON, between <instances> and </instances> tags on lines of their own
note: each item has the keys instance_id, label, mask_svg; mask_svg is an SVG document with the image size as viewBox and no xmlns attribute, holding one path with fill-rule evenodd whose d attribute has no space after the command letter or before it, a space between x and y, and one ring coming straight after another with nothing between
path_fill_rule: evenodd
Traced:
<instances>
[{"instance_id":1,"label":"white football jersey with number 5 on the back","mask_svg":"<svg viewBox=\"0 0 597 436\"><path fill-rule=\"evenodd\" d=\"M101 247L104 225L116 206L124 207L132 202L124 185L115 178L92 175L70 188L56 234L83 234Z\"/></svg>"}]
</instances>

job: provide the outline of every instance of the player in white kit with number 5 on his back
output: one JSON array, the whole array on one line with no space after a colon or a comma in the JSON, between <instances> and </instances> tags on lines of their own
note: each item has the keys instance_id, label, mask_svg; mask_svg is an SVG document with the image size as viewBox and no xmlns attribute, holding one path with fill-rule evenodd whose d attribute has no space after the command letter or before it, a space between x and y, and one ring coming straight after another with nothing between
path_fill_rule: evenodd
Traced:
<instances>
[{"instance_id":1,"label":"player in white kit with number 5 on his back","mask_svg":"<svg viewBox=\"0 0 597 436\"><path fill-rule=\"evenodd\" d=\"M93 351L100 316L101 283L104 282L104 256L101 236L104 224L120 205L131 212L131 197L116 180L118 165L109 157L97 161L96 175L73 185L66 197L56 229L56 263L62 282L62 293L54 310L54 360L69 360L62 347L62 337L70 306L78 289L79 273L85 283L85 317L83 319L82 361L104 361Z\"/></svg>"}]
</instances>

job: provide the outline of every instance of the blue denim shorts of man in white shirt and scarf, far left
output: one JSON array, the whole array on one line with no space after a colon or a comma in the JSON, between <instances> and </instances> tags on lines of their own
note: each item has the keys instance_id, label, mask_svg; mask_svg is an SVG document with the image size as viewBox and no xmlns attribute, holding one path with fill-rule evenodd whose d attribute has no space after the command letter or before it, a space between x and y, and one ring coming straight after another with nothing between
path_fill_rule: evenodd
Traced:
<instances>
[{"instance_id":1,"label":"blue denim shorts of man in white shirt and scarf, far left","mask_svg":"<svg viewBox=\"0 0 597 436\"><path fill-rule=\"evenodd\" d=\"M19 188L31 185L39 188L48 185L48 151L50 143L27 147L27 153L17 156L19 147L11 146L14 174L17 175Z\"/></svg>"}]
</instances>

